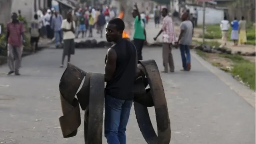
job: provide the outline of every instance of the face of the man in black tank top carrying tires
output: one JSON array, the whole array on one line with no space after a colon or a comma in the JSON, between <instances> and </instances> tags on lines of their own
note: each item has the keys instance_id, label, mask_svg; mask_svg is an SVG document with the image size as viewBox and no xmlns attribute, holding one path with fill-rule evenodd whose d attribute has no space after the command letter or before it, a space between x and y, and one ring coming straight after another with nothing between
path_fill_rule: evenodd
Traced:
<instances>
[{"instance_id":1,"label":"face of the man in black tank top carrying tires","mask_svg":"<svg viewBox=\"0 0 256 144\"><path fill-rule=\"evenodd\" d=\"M108 42L115 41L118 37L118 34L120 34L120 32L116 30L115 24L106 24L106 40Z\"/></svg>"}]
</instances>

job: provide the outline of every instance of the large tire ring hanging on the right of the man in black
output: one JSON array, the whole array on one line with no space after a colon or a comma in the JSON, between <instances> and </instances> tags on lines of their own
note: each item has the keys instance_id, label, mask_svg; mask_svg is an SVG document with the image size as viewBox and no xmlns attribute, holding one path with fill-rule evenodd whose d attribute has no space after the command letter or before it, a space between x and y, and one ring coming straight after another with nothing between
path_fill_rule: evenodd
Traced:
<instances>
[{"instance_id":1,"label":"large tire ring hanging on the right of the man in black","mask_svg":"<svg viewBox=\"0 0 256 144\"><path fill-rule=\"evenodd\" d=\"M152 126L147 107L134 102L134 110L140 131L148 144L169 144L171 139L170 118L158 67L154 60L141 60L138 63L142 65L142 71L145 73L150 86L150 93L156 112L158 135L156 135Z\"/></svg>"}]
</instances>

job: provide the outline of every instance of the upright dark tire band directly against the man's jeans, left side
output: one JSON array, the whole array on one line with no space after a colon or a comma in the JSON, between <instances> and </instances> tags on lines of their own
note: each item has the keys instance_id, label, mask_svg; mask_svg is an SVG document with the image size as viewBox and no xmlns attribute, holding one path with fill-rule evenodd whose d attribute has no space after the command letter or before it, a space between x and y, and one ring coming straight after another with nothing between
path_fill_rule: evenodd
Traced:
<instances>
[{"instance_id":1,"label":"upright dark tire band directly against the man's jeans, left side","mask_svg":"<svg viewBox=\"0 0 256 144\"><path fill-rule=\"evenodd\" d=\"M90 73L90 98L84 116L85 144L102 144L104 74Z\"/></svg>"}]
</instances>

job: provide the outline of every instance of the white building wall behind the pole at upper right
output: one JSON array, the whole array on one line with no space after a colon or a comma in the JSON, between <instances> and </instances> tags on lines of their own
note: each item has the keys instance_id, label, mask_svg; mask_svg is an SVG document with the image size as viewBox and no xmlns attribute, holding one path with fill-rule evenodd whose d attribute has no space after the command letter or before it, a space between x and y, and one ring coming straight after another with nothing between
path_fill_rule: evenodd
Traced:
<instances>
[{"instance_id":1,"label":"white building wall behind the pole at upper right","mask_svg":"<svg viewBox=\"0 0 256 144\"><path fill-rule=\"evenodd\" d=\"M194 8L198 10L198 21L199 25L203 24L203 8L199 6L188 6L190 12L194 12ZM224 10L215 8L205 8L205 24L220 24L224 18Z\"/></svg>"}]
</instances>

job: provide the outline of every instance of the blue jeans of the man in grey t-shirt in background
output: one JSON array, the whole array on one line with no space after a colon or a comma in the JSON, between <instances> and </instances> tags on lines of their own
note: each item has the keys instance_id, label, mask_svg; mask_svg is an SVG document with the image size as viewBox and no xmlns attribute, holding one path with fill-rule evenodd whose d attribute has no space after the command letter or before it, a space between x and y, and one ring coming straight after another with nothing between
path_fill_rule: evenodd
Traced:
<instances>
[{"instance_id":1,"label":"blue jeans of the man in grey t-shirt in background","mask_svg":"<svg viewBox=\"0 0 256 144\"><path fill-rule=\"evenodd\" d=\"M190 46L180 44L180 55L183 69L187 70L187 64L190 63Z\"/></svg>"}]
</instances>

